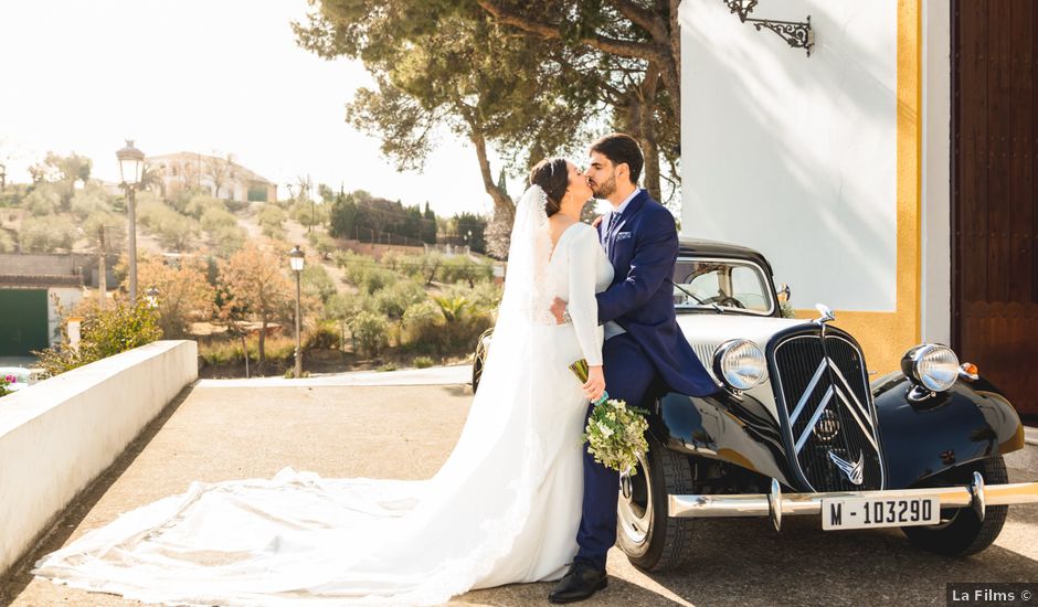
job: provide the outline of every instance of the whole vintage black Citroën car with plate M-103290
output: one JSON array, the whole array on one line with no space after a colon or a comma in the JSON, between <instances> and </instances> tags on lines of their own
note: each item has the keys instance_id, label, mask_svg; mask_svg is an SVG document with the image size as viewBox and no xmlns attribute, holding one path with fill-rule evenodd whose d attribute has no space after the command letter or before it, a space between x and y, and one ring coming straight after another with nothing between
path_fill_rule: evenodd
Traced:
<instances>
[{"instance_id":1,"label":"whole vintage black Citro\u00ebn car with plate M-103290","mask_svg":"<svg viewBox=\"0 0 1038 607\"><path fill-rule=\"evenodd\" d=\"M909 349L901 370L869 381L861 348L829 324L783 318L771 265L750 248L682 241L675 308L703 365L725 387L706 397L660 391L649 450L621 478L617 544L642 568L685 563L695 519L822 518L825 530L899 526L933 552L995 541L1010 503L1038 483L1007 483L1003 456L1024 447L1013 405L951 349ZM473 390L488 348L480 337Z\"/></svg>"}]
</instances>

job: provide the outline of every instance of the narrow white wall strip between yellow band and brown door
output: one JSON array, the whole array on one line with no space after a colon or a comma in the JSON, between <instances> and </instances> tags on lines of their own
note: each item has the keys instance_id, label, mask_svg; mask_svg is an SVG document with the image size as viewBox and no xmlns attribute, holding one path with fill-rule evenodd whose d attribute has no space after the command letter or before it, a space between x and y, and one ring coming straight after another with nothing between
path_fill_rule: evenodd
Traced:
<instances>
[{"instance_id":1,"label":"narrow white wall strip between yellow band and brown door","mask_svg":"<svg viewBox=\"0 0 1038 607\"><path fill-rule=\"evenodd\" d=\"M951 9L923 3L922 339L952 341Z\"/></svg>"}]
</instances>

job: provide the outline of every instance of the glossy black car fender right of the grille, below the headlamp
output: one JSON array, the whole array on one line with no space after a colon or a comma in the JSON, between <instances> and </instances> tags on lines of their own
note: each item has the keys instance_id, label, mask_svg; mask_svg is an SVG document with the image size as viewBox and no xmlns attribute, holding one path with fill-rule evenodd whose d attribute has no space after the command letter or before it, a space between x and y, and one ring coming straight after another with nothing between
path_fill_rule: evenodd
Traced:
<instances>
[{"instance_id":1,"label":"glossy black car fender right of the grille, below the headlamp","mask_svg":"<svg viewBox=\"0 0 1038 607\"><path fill-rule=\"evenodd\" d=\"M872 383L888 489L913 487L956 466L1024 448L1019 415L983 377L961 379L919 401L909 398L913 385L900 372Z\"/></svg>"}]
</instances>

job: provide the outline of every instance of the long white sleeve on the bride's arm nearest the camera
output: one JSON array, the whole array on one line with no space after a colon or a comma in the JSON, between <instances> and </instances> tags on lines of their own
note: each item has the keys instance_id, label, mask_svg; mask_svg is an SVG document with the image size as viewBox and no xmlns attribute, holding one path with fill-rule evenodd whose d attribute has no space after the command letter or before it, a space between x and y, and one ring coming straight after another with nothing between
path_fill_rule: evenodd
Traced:
<instances>
[{"instance_id":1,"label":"long white sleeve on the bride's arm nearest the camera","mask_svg":"<svg viewBox=\"0 0 1038 607\"><path fill-rule=\"evenodd\" d=\"M599 302L595 299L595 260L599 245L593 230L580 230L570 241L568 309L573 319L576 341L590 365L602 364L602 343L599 341Z\"/></svg>"}]
</instances>

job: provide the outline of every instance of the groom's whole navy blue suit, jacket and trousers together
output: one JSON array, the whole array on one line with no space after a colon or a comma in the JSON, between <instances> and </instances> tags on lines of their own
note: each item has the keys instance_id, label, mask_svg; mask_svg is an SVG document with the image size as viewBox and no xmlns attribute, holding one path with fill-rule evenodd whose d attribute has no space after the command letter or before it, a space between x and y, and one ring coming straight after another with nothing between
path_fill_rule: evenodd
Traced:
<instances>
[{"instance_id":1,"label":"groom's whole navy blue suit, jacket and trousers together","mask_svg":"<svg viewBox=\"0 0 1038 607\"><path fill-rule=\"evenodd\" d=\"M602 349L610 397L642 405L659 382L689 396L717 392L719 386L685 339L674 312L678 258L674 215L643 190L619 217L599 224L599 239L614 273L613 283L597 295L599 322L612 320L626 331L606 340ZM585 450L576 560L600 569L605 568L606 552L616 542L618 487L619 475L595 462Z\"/></svg>"}]
</instances>

